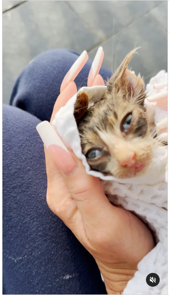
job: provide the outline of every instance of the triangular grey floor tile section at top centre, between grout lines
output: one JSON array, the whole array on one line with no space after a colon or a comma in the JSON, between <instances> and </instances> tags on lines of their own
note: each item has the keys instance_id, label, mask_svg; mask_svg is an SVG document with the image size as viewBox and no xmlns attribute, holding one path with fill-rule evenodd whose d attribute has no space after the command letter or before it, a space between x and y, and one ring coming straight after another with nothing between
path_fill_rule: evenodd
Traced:
<instances>
[{"instance_id":1,"label":"triangular grey floor tile section at top centre, between grout lines","mask_svg":"<svg viewBox=\"0 0 169 295\"><path fill-rule=\"evenodd\" d=\"M162 1L65 1L102 39L144 16Z\"/></svg>"}]
</instances>

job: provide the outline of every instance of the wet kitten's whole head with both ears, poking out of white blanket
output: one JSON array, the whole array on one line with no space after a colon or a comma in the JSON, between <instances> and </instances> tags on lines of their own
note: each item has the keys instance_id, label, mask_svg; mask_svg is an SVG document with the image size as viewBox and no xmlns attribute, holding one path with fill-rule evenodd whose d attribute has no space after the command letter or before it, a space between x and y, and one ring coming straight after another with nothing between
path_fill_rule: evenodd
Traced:
<instances>
[{"instance_id":1,"label":"wet kitten's whole head with both ears, poking out of white blanket","mask_svg":"<svg viewBox=\"0 0 169 295\"><path fill-rule=\"evenodd\" d=\"M153 158L154 140L144 107L145 83L127 69L135 51L126 55L107 81L99 101L88 108L88 96L81 92L74 106L82 152L91 169L117 178L142 175Z\"/></svg>"}]
</instances>

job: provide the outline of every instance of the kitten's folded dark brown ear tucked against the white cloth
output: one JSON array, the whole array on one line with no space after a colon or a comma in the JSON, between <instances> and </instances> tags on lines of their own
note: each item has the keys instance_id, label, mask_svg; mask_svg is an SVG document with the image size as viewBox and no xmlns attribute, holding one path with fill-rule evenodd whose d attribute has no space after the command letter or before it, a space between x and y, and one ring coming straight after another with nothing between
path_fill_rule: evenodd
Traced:
<instances>
[{"instance_id":1,"label":"kitten's folded dark brown ear tucked against the white cloth","mask_svg":"<svg viewBox=\"0 0 169 295\"><path fill-rule=\"evenodd\" d=\"M80 119L85 112L87 111L89 106L89 99L85 92L79 92L77 94L77 99L74 104L74 118L77 122L78 119Z\"/></svg>"}]
</instances>

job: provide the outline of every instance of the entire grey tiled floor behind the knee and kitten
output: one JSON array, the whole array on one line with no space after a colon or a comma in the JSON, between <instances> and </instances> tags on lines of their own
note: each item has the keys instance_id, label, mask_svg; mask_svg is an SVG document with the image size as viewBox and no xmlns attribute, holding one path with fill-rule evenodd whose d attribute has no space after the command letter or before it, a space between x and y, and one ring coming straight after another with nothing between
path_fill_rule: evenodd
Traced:
<instances>
[{"instance_id":1,"label":"entire grey tiled floor behind the knee and kitten","mask_svg":"<svg viewBox=\"0 0 169 295\"><path fill-rule=\"evenodd\" d=\"M167 70L168 1L2 1L3 103L13 84L38 54L54 48L87 50L93 59L103 46L111 70L134 46L130 63L145 82Z\"/></svg>"}]
</instances>

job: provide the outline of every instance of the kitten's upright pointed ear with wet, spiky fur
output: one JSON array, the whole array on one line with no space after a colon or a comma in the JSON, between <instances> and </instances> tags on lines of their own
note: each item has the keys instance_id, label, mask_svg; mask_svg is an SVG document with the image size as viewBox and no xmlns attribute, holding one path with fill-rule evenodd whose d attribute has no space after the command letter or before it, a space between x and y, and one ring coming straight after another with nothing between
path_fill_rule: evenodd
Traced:
<instances>
[{"instance_id":1,"label":"kitten's upright pointed ear with wet, spiky fur","mask_svg":"<svg viewBox=\"0 0 169 295\"><path fill-rule=\"evenodd\" d=\"M126 55L121 65L113 76L107 82L107 92L109 94L118 93L120 90L123 93L123 98L134 100L134 103L140 107L144 106L145 100L145 83L140 74L136 76L133 72L127 69L128 63L133 54L136 52L133 49Z\"/></svg>"}]
</instances>

